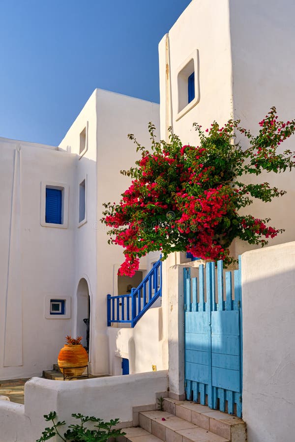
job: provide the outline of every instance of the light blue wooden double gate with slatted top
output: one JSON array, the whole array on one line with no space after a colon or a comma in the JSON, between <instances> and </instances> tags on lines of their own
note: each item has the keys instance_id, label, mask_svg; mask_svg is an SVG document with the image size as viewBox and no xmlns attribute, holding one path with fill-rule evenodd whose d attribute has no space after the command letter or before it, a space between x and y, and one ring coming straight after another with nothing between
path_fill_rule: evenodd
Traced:
<instances>
[{"instance_id":1,"label":"light blue wooden double gate with slatted top","mask_svg":"<svg viewBox=\"0 0 295 442\"><path fill-rule=\"evenodd\" d=\"M222 261L217 275L214 262L206 264L206 275L200 265L198 278L184 269L185 392L188 400L241 417L240 259L238 270L225 272L225 296L223 276Z\"/></svg>"}]
</instances>

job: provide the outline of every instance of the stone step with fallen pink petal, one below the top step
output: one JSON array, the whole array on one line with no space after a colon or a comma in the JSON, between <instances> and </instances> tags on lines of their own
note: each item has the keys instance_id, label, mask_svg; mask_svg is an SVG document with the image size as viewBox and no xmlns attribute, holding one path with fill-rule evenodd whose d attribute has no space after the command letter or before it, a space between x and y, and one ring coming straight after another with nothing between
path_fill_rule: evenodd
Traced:
<instances>
[{"instance_id":1,"label":"stone step with fallen pink petal, one below the top step","mask_svg":"<svg viewBox=\"0 0 295 442\"><path fill-rule=\"evenodd\" d=\"M165 442L230 442L228 438L165 411L140 412L139 425Z\"/></svg>"}]
</instances>

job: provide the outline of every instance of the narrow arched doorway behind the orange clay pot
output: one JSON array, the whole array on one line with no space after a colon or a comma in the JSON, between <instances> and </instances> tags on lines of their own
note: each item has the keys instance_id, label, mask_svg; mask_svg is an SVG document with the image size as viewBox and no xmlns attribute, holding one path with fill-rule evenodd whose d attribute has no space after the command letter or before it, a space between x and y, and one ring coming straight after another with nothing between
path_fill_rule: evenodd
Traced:
<instances>
[{"instance_id":1,"label":"narrow arched doorway behind the orange clay pot","mask_svg":"<svg viewBox=\"0 0 295 442\"><path fill-rule=\"evenodd\" d=\"M77 288L77 336L82 336L82 345L89 351L90 297L88 283L81 278Z\"/></svg>"}]
</instances>

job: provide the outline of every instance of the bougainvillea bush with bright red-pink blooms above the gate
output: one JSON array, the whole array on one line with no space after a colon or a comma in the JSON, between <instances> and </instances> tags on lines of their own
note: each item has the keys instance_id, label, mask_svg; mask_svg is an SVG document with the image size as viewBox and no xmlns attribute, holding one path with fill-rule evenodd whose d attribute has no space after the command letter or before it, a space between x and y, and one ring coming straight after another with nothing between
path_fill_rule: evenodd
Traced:
<instances>
[{"instance_id":1,"label":"bougainvillea bush with bright red-pink blooms above the gate","mask_svg":"<svg viewBox=\"0 0 295 442\"><path fill-rule=\"evenodd\" d=\"M121 173L132 178L118 204L106 203L102 221L110 227L109 243L124 248L125 262L119 275L133 276L139 258L161 250L163 259L174 251L187 251L206 260L233 258L229 246L235 238L264 246L283 229L268 225L269 219L241 215L239 209L253 198L271 201L285 191L268 183L249 184L247 175L284 172L295 165L294 152L279 145L295 132L295 120L279 121L271 108L259 123L254 136L229 120L223 127L215 121L199 134L199 145L182 145L170 132L170 142L157 142L149 123L151 150L141 146L133 135L141 159ZM248 138L243 150L236 134ZM253 180L251 180L253 181Z\"/></svg>"}]
</instances>

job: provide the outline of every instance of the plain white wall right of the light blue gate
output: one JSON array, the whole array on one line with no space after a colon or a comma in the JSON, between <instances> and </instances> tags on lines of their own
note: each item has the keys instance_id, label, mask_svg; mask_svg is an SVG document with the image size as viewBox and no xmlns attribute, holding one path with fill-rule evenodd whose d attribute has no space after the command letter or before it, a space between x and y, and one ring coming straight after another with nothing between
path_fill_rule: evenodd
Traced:
<instances>
[{"instance_id":1,"label":"plain white wall right of the light blue gate","mask_svg":"<svg viewBox=\"0 0 295 442\"><path fill-rule=\"evenodd\" d=\"M242 255L243 419L249 442L293 442L295 242Z\"/></svg>"}]
</instances>

